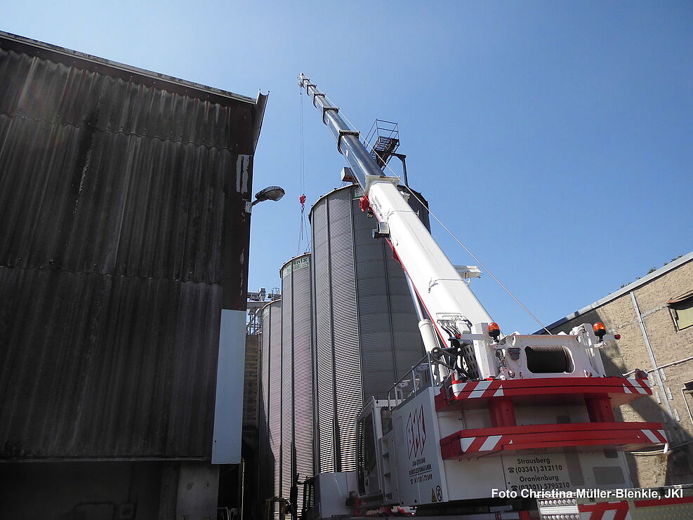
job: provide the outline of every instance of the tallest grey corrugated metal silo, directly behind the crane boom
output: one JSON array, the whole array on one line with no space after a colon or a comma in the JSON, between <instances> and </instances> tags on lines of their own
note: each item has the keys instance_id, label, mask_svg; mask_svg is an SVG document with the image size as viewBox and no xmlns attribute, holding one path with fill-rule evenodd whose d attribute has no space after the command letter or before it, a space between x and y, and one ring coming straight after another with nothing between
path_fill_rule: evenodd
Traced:
<instances>
[{"instance_id":1,"label":"tallest grey corrugated metal silo, directly behind the crane boom","mask_svg":"<svg viewBox=\"0 0 693 520\"><path fill-rule=\"evenodd\" d=\"M312 207L319 472L352 471L356 418L423 356L418 320L400 265L374 240L374 220L358 206L360 188L342 187ZM409 204L428 226L428 211Z\"/></svg>"}]
</instances>

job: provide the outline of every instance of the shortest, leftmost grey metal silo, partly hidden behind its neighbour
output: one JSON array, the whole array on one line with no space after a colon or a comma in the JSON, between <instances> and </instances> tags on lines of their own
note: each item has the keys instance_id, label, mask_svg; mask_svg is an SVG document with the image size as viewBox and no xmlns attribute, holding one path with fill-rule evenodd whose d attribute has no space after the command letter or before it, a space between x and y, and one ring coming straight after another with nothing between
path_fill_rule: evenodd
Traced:
<instances>
[{"instance_id":1,"label":"shortest, leftmost grey metal silo, partly hidden behind its neighbour","mask_svg":"<svg viewBox=\"0 0 693 520\"><path fill-rule=\"evenodd\" d=\"M260 498L270 498L281 485L282 300L265 305L262 316L259 487Z\"/></svg>"}]
</instances>

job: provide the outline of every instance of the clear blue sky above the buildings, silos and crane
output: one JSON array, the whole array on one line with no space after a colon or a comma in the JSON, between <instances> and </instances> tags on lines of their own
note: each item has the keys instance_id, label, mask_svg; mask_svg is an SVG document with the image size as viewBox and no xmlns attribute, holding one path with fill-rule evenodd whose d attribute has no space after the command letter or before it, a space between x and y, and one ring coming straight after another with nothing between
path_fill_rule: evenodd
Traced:
<instances>
[{"instance_id":1,"label":"clear blue sky above the buildings, silos and crane","mask_svg":"<svg viewBox=\"0 0 693 520\"><path fill-rule=\"evenodd\" d=\"M251 289L297 250L298 72L364 132L399 121L411 186L546 323L693 249L690 1L27 0L0 29L270 91L254 186L287 196L253 213ZM343 160L304 116L310 206ZM536 330L489 276L472 287L504 331Z\"/></svg>"}]
</instances>

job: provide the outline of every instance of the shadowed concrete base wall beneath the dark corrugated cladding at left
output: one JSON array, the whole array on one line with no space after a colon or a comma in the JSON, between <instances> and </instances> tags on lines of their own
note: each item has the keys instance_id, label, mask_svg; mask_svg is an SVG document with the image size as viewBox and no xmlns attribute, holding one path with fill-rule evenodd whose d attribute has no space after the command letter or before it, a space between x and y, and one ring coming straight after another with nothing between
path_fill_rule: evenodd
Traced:
<instances>
[{"instance_id":1,"label":"shadowed concrete base wall beneath the dark corrugated cladding at left","mask_svg":"<svg viewBox=\"0 0 693 520\"><path fill-rule=\"evenodd\" d=\"M208 462L6 462L0 519L216 520Z\"/></svg>"}]
</instances>

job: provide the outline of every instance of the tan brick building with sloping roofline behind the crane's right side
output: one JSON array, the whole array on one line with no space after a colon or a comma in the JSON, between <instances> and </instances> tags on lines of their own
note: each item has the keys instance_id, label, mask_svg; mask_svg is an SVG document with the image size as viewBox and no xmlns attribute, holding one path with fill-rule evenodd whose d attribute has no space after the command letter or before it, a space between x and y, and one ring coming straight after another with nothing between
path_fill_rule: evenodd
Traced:
<instances>
[{"instance_id":1,"label":"tan brick building with sloping roofline behind the crane's right side","mask_svg":"<svg viewBox=\"0 0 693 520\"><path fill-rule=\"evenodd\" d=\"M647 371L651 399L616 411L626 421L662 422L668 453L632 453L634 486L693 482L693 252L548 326L552 333L601 321L621 340L602 350L607 375Z\"/></svg>"}]
</instances>

